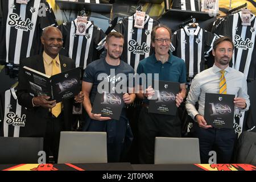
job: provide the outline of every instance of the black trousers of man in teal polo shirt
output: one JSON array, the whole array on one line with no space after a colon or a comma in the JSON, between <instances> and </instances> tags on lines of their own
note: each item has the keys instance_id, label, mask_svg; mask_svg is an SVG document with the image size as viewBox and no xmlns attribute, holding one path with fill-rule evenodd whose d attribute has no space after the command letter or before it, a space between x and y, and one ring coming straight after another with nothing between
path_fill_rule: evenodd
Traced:
<instances>
[{"instance_id":1,"label":"black trousers of man in teal polo shirt","mask_svg":"<svg viewBox=\"0 0 256 182\"><path fill-rule=\"evenodd\" d=\"M181 122L174 115L148 113L142 107L138 123L139 163L154 164L155 137L181 137Z\"/></svg>"}]
</instances>

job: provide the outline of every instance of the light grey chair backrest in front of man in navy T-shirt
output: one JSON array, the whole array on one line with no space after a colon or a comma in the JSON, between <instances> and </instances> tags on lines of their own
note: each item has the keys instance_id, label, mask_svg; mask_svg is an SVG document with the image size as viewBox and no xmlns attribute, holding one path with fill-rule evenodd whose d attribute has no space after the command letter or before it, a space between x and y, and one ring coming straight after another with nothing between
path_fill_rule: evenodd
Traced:
<instances>
[{"instance_id":1,"label":"light grey chair backrest in front of man in navy T-shirt","mask_svg":"<svg viewBox=\"0 0 256 182\"><path fill-rule=\"evenodd\" d=\"M61 131L58 163L107 163L106 132Z\"/></svg>"}]
</instances>

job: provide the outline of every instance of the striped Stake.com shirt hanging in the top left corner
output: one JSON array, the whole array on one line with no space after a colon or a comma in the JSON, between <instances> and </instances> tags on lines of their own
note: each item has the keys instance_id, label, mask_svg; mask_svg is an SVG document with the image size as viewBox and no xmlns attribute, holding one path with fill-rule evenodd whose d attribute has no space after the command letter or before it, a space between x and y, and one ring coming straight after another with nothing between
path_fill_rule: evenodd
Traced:
<instances>
[{"instance_id":1,"label":"striped Stake.com shirt hanging in the top left corner","mask_svg":"<svg viewBox=\"0 0 256 182\"><path fill-rule=\"evenodd\" d=\"M0 59L19 64L21 59L37 55L43 28L56 26L55 15L45 0L30 0L27 5L15 0L3 1L0 34Z\"/></svg>"}]
</instances>

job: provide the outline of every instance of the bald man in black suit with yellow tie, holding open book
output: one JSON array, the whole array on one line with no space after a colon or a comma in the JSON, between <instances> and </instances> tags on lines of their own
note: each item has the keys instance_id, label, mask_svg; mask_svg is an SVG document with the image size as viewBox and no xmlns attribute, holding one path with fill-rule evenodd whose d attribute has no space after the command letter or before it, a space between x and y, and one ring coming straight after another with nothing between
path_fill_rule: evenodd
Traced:
<instances>
[{"instance_id":1,"label":"bald man in black suit with yellow tie, holding open book","mask_svg":"<svg viewBox=\"0 0 256 182\"><path fill-rule=\"evenodd\" d=\"M56 67L59 72L75 68L75 61L59 55L63 46L63 37L58 28L45 28L41 42L44 46L43 54L20 61L19 84L16 94L19 104L27 107L26 136L22 137L44 137L44 151L46 151L47 157L51 151L55 162L57 162L60 131L71 130L73 103L82 102L84 94L80 92L75 96L75 100L71 98L61 102L57 114L53 114L53 110L57 107L55 100L48 101L48 96L32 97L29 94L27 90L28 80L23 70L24 66L50 76L55 72L53 69Z\"/></svg>"}]
</instances>

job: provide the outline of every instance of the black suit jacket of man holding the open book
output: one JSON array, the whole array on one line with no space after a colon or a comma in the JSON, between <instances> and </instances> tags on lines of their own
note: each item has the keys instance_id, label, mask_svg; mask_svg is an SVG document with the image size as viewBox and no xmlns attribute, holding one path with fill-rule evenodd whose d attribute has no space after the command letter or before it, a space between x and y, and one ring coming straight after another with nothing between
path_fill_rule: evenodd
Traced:
<instances>
[{"instance_id":1,"label":"black suit jacket of man holding the open book","mask_svg":"<svg viewBox=\"0 0 256 182\"><path fill-rule=\"evenodd\" d=\"M61 56L60 65L61 72L68 71L68 69L75 68L75 61L68 57ZM46 134L46 118L49 114L49 110L41 107L32 105L32 96L28 93L28 81L24 73L23 67L29 67L36 71L46 73L44 70L43 55L36 55L28 57L20 61L19 71L19 84L17 86L16 95L18 97L19 105L27 108L26 114L26 127L24 127L22 136L20 137L44 137ZM63 101L63 114L64 114L64 130L70 131L73 121L72 117L72 106L73 98Z\"/></svg>"}]
</instances>

